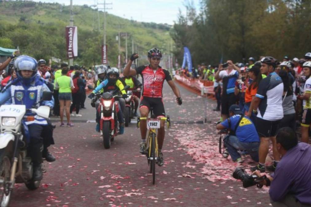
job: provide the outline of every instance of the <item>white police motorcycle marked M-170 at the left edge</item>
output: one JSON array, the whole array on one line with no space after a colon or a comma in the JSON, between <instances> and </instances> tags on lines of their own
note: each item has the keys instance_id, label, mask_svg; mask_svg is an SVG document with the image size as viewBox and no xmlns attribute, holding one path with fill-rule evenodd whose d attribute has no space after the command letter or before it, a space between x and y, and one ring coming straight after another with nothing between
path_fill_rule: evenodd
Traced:
<instances>
[{"instance_id":1,"label":"white police motorcycle marked M-170 at the left edge","mask_svg":"<svg viewBox=\"0 0 311 207\"><path fill-rule=\"evenodd\" d=\"M41 101L51 100L52 95L52 92L44 91ZM50 108L39 106L26 109L25 105L13 104L0 107L1 207L9 205L15 183L25 183L29 190L35 190L40 186L40 181L32 180L32 161L30 157L27 157L27 143L29 143L30 136L25 121L33 121L35 117L25 116L26 112L49 118Z\"/></svg>"}]
</instances>

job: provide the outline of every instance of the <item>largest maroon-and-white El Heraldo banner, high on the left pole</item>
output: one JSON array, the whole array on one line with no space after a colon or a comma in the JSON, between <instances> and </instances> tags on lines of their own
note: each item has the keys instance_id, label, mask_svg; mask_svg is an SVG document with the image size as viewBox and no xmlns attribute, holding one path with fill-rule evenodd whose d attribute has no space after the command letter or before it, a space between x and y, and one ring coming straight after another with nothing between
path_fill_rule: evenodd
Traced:
<instances>
[{"instance_id":1,"label":"largest maroon-and-white El Heraldo banner, high on the left pole","mask_svg":"<svg viewBox=\"0 0 311 207\"><path fill-rule=\"evenodd\" d=\"M78 56L78 27L66 27L66 47L68 59Z\"/></svg>"}]
</instances>

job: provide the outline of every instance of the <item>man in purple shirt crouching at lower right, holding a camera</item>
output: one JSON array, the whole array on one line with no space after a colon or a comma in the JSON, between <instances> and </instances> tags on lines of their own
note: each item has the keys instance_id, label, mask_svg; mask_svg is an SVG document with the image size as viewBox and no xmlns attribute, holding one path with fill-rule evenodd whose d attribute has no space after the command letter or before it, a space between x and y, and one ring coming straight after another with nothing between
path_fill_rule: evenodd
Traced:
<instances>
[{"instance_id":1,"label":"man in purple shirt crouching at lower right, holding a camera","mask_svg":"<svg viewBox=\"0 0 311 207\"><path fill-rule=\"evenodd\" d=\"M311 147L300 142L289 127L281 128L276 135L276 147L281 161L275 172L263 181L270 186L272 206L311 206ZM254 172L261 176L260 171Z\"/></svg>"}]
</instances>

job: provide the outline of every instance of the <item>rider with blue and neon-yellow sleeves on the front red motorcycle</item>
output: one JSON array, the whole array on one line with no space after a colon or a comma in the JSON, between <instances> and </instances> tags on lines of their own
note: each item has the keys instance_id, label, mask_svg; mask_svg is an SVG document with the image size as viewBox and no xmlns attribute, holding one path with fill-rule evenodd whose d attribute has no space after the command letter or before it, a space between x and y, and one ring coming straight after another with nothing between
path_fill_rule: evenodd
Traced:
<instances>
[{"instance_id":1,"label":"rider with blue and neon-yellow sleeves on the front red motorcycle","mask_svg":"<svg viewBox=\"0 0 311 207\"><path fill-rule=\"evenodd\" d=\"M119 89L121 93L123 94L123 98L125 99L127 97L126 91L123 90L124 85L123 83L118 79L119 78L119 70L118 68L112 67L108 69L107 71L107 79L102 81L88 96L90 99L94 97L95 93L98 93L101 89L103 89L103 92L112 92L116 89ZM123 99L123 101L124 101ZM121 101L121 99L119 99ZM119 108L120 104L119 104ZM99 132L100 130L100 114L98 113L98 110L96 110L96 131ZM124 119L123 119L123 112L122 110L119 110L118 112L118 122L120 123L120 131L119 134L124 133Z\"/></svg>"}]
</instances>

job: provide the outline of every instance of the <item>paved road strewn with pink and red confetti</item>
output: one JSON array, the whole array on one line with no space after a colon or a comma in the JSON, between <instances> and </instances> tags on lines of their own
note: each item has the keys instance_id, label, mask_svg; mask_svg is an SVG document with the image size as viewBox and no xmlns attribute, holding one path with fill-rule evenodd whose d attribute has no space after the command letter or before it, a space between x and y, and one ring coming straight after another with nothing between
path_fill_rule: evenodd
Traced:
<instances>
[{"instance_id":1,"label":"paved road strewn with pink and red confetti","mask_svg":"<svg viewBox=\"0 0 311 207\"><path fill-rule=\"evenodd\" d=\"M174 124L166 131L165 165L156 167L156 184L148 173L146 157L138 152L140 132L135 124L117 136L105 150L95 132L95 110L87 103L74 127L57 127L57 156L44 163L42 186L28 191L16 185L12 206L268 206L267 189L244 189L231 175L236 163L218 154L214 124L202 124L203 99L180 87L183 105L178 106L169 86L164 86L166 113ZM88 101L88 100L87 100ZM208 100L208 120L215 101ZM57 122L58 118L52 118ZM57 123L59 124L59 123ZM245 158L242 167L249 166Z\"/></svg>"}]
</instances>

